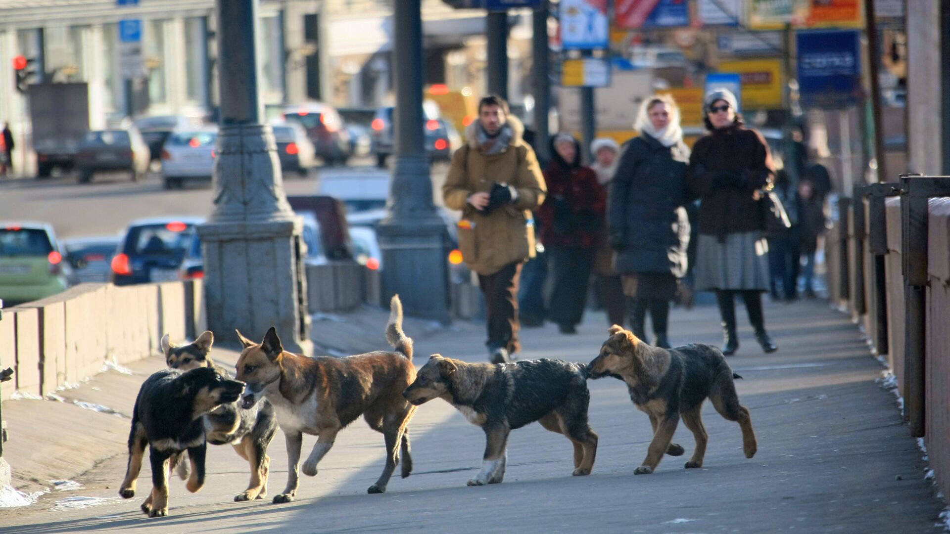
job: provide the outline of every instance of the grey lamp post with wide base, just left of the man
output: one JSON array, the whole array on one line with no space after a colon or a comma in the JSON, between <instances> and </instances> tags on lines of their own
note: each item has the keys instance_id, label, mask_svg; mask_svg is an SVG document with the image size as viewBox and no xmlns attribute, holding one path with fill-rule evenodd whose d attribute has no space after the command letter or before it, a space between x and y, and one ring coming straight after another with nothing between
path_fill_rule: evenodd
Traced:
<instances>
[{"instance_id":1,"label":"grey lamp post with wide base, just left of the man","mask_svg":"<svg viewBox=\"0 0 950 534\"><path fill-rule=\"evenodd\" d=\"M393 53L395 163L390 215L379 224L384 301L398 294L407 315L449 321L446 224L432 203L423 135L420 0L396 0Z\"/></svg>"}]
</instances>

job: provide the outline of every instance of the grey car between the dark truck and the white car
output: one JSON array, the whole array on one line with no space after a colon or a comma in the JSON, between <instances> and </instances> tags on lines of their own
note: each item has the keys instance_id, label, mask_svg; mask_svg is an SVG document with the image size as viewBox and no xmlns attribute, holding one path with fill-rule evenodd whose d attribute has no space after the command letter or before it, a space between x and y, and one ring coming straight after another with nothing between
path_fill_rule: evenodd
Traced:
<instances>
[{"instance_id":1,"label":"grey car between the dark truck and the white car","mask_svg":"<svg viewBox=\"0 0 950 534\"><path fill-rule=\"evenodd\" d=\"M80 183L92 181L97 172L128 172L139 181L148 172L148 146L134 126L127 129L86 132L76 152Z\"/></svg>"}]
</instances>

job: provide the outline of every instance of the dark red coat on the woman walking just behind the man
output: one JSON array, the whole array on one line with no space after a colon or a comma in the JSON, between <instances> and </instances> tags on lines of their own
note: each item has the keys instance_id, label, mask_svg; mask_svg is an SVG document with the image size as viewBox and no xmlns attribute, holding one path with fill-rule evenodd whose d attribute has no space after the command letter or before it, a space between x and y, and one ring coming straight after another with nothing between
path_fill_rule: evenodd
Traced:
<instances>
[{"instance_id":1,"label":"dark red coat on the woman walking just behind the man","mask_svg":"<svg viewBox=\"0 0 950 534\"><path fill-rule=\"evenodd\" d=\"M574 144L580 159L580 143L575 140ZM597 246L607 199L594 171L578 162L565 162L552 139L551 164L544 169L544 183L547 199L538 209L544 246Z\"/></svg>"}]
</instances>

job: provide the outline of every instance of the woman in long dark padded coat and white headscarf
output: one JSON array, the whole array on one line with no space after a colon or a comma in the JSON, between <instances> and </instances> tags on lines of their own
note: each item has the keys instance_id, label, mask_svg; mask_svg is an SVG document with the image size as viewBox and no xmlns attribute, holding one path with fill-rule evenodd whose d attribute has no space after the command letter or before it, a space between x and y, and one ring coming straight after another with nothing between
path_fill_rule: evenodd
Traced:
<instances>
[{"instance_id":1,"label":"woman in long dark padded coat and white headscarf","mask_svg":"<svg viewBox=\"0 0 950 534\"><path fill-rule=\"evenodd\" d=\"M632 300L631 328L646 337L647 310L654 345L670 348L667 322L678 279L686 275L690 222L686 172L690 149L683 143L679 110L668 96L640 106L635 127L640 136L627 143L611 182L607 228L617 251L615 265L623 293Z\"/></svg>"}]
</instances>

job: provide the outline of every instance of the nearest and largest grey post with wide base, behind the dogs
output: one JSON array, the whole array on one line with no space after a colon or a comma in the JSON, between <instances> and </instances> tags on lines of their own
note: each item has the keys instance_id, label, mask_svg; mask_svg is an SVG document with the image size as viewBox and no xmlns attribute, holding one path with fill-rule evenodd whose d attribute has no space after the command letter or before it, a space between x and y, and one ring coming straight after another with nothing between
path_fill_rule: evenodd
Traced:
<instances>
[{"instance_id":1,"label":"nearest and largest grey post with wide base, behind the dogs","mask_svg":"<svg viewBox=\"0 0 950 534\"><path fill-rule=\"evenodd\" d=\"M257 91L257 1L217 0L220 131L214 210L199 226L208 328L262 338L275 326L284 348L310 354L302 219L284 194L271 126Z\"/></svg>"}]
</instances>

